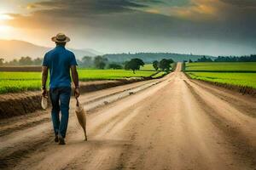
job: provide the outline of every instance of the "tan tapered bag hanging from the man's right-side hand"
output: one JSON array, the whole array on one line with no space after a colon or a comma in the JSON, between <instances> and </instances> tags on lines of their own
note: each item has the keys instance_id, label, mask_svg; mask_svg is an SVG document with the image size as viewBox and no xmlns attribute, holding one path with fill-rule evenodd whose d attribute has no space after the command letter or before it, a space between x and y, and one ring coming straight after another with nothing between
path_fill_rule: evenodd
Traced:
<instances>
[{"instance_id":1,"label":"tan tapered bag hanging from the man's right-side hand","mask_svg":"<svg viewBox=\"0 0 256 170\"><path fill-rule=\"evenodd\" d=\"M77 100L77 104L76 104L75 112L76 112L77 118L79 120L79 124L81 125L81 127L84 130L84 137L85 137L84 140L86 141L87 140L87 134L86 134L86 112L84 110L84 106L79 103L79 99L76 98L76 100Z\"/></svg>"}]
</instances>

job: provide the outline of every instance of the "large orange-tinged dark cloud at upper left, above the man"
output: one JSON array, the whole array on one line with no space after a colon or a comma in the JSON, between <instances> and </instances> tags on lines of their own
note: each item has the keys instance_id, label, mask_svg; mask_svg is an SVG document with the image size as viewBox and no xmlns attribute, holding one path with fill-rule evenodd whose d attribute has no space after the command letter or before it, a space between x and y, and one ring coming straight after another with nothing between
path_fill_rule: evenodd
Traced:
<instances>
[{"instance_id":1,"label":"large orange-tinged dark cloud at upper left, above the man","mask_svg":"<svg viewBox=\"0 0 256 170\"><path fill-rule=\"evenodd\" d=\"M121 13L134 13L140 8L153 4L163 4L161 0L51 0L29 3L26 8L32 9L29 14L9 14L9 26L43 29L88 24L95 25L99 17ZM153 11L148 11L153 13Z\"/></svg>"}]
</instances>

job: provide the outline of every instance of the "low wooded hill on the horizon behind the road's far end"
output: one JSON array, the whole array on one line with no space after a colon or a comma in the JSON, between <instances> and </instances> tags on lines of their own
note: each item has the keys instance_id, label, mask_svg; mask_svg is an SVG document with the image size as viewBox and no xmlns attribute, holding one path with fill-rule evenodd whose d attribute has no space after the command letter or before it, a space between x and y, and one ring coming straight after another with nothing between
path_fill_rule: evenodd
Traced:
<instances>
[{"instance_id":1,"label":"low wooded hill on the horizon behind the road's far end","mask_svg":"<svg viewBox=\"0 0 256 170\"><path fill-rule=\"evenodd\" d=\"M145 63L152 63L154 60L173 59L174 61L183 60L197 60L201 59L203 55L193 54L172 54L172 53L137 53L137 54L105 54L109 62L123 63L133 58L143 59ZM207 56L207 58L216 59L216 57Z\"/></svg>"}]
</instances>

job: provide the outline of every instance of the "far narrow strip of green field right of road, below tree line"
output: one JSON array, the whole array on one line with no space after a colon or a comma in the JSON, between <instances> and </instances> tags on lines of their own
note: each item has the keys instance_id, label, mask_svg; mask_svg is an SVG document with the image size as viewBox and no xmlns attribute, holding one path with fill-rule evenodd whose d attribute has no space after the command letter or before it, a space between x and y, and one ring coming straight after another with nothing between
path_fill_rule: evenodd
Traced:
<instances>
[{"instance_id":1,"label":"far narrow strip of green field right of road, below tree line","mask_svg":"<svg viewBox=\"0 0 256 170\"><path fill-rule=\"evenodd\" d=\"M256 62L237 63L189 63L186 64L186 71L207 71L207 72L256 72Z\"/></svg>"}]
</instances>

